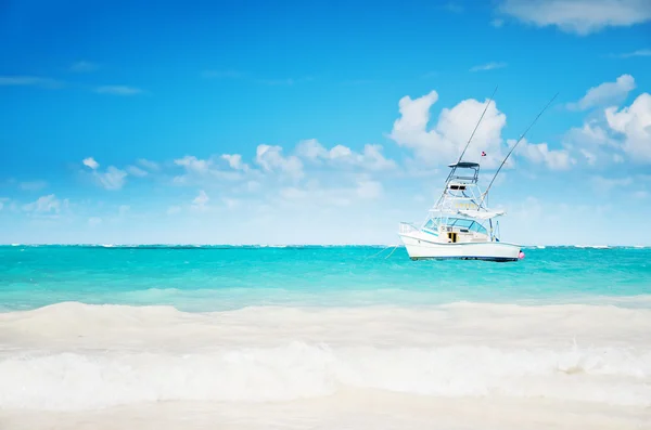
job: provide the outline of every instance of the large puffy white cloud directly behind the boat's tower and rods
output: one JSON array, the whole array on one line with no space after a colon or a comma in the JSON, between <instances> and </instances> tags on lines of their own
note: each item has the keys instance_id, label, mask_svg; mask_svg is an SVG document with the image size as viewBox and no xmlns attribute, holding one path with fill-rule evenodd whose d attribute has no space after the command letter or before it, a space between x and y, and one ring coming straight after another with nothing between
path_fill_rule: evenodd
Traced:
<instances>
[{"instance_id":1,"label":"large puffy white cloud directly behind the boat's tower and rods","mask_svg":"<svg viewBox=\"0 0 651 430\"><path fill-rule=\"evenodd\" d=\"M454 162L465 146L486 103L468 99L458 105L444 108L436 127L427 130L430 108L438 100L436 91L418 99L406 95L399 101L400 118L393 126L390 138L401 146L414 151L418 159L425 162ZM502 159L501 130L507 116L490 102L465 155L464 160L481 161L495 167ZM486 157L481 157L482 151Z\"/></svg>"}]
</instances>

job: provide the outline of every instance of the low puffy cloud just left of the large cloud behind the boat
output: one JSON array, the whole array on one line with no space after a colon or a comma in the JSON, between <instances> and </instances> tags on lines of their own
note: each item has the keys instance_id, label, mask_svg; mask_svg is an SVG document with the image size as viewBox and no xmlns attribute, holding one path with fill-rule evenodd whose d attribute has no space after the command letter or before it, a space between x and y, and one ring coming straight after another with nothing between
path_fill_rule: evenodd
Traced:
<instances>
[{"instance_id":1,"label":"low puffy cloud just left of the large cloud behind the boat","mask_svg":"<svg viewBox=\"0 0 651 430\"><path fill-rule=\"evenodd\" d=\"M327 160L333 166L357 166L367 170L385 170L396 167L396 162L382 155L381 145L367 144L362 153L356 153L344 145L327 149L316 139L299 142L296 153L312 161Z\"/></svg>"}]
</instances>

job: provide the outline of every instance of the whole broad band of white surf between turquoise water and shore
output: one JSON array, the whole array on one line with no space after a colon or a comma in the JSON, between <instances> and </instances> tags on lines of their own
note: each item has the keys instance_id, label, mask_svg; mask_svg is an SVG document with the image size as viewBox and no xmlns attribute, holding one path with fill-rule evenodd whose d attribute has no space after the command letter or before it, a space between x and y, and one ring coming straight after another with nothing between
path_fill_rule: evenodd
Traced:
<instances>
[{"instance_id":1,"label":"whole broad band of white surf between turquoise water and shore","mask_svg":"<svg viewBox=\"0 0 651 430\"><path fill-rule=\"evenodd\" d=\"M184 313L60 303L0 313L0 409L350 389L648 407L650 325L649 309L585 304Z\"/></svg>"}]
</instances>

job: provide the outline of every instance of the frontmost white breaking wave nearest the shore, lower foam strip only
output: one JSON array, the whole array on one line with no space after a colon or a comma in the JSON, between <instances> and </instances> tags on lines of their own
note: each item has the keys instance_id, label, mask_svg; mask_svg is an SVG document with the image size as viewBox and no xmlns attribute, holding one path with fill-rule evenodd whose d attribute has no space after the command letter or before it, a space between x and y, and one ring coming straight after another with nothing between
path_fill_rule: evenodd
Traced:
<instances>
[{"instance_id":1,"label":"frontmost white breaking wave nearest the shore, lower foam strip only","mask_svg":"<svg viewBox=\"0 0 651 430\"><path fill-rule=\"evenodd\" d=\"M640 383L649 376L650 354L617 350L331 349L293 342L179 355L59 353L4 359L0 406L76 411L156 401L290 401L345 388L649 406L651 387Z\"/></svg>"}]
</instances>

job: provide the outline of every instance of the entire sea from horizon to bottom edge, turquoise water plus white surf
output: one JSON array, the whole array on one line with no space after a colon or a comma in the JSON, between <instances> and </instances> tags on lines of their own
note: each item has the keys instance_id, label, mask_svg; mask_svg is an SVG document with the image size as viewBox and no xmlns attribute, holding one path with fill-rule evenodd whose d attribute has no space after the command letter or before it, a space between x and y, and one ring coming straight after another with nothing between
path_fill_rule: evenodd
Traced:
<instances>
[{"instance_id":1,"label":"entire sea from horizon to bottom edge, turquoise water plus white surf","mask_svg":"<svg viewBox=\"0 0 651 430\"><path fill-rule=\"evenodd\" d=\"M0 428L651 428L651 249L0 247Z\"/></svg>"}]
</instances>

